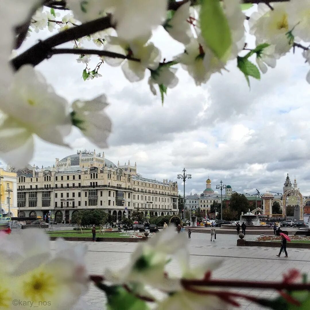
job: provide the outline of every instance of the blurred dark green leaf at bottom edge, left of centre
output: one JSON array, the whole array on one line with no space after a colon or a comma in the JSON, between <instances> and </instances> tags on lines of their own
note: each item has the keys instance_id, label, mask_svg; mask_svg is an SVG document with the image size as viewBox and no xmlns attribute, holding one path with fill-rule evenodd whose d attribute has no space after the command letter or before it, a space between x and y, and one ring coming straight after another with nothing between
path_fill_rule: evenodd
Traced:
<instances>
[{"instance_id":1,"label":"blurred dark green leaf at bottom edge, left of centre","mask_svg":"<svg viewBox=\"0 0 310 310\"><path fill-rule=\"evenodd\" d=\"M122 286L97 285L104 290L108 299L109 310L147 310L146 302L129 293Z\"/></svg>"}]
</instances>

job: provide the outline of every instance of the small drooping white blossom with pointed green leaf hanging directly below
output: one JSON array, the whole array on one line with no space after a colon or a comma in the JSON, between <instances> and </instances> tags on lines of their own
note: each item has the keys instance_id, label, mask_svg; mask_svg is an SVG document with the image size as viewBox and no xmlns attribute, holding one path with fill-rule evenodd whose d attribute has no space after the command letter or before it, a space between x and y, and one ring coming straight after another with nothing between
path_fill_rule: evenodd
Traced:
<instances>
[{"instance_id":1,"label":"small drooping white blossom with pointed green leaf hanging directly below","mask_svg":"<svg viewBox=\"0 0 310 310\"><path fill-rule=\"evenodd\" d=\"M151 76L148 79L148 85L154 95L156 95L156 90L154 85L164 85L168 88L175 87L179 79L175 75L177 69L171 68L170 65L161 64L156 70L151 70Z\"/></svg>"}]
</instances>

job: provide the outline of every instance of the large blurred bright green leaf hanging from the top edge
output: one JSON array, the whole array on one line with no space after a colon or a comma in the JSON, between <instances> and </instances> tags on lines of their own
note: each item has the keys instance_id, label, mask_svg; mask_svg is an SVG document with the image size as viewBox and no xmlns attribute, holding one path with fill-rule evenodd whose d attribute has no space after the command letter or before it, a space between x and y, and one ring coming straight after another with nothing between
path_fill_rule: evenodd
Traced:
<instances>
[{"instance_id":1,"label":"large blurred bright green leaf hanging from the top edge","mask_svg":"<svg viewBox=\"0 0 310 310\"><path fill-rule=\"evenodd\" d=\"M219 59L225 59L232 45L228 21L218 0L203 0L200 9L201 35Z\"/></svg>"}]
</instances>

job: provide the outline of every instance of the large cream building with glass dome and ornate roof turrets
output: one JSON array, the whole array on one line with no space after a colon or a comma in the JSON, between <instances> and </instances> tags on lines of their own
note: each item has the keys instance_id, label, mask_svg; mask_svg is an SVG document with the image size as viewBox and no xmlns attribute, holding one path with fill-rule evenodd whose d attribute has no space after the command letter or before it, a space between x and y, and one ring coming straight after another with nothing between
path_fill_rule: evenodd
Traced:
<instances>
[{"instance_id":1,"label":"large cream building with glass dome and ornate roof turrets","mask_svg":"<svg viewBox=\"0 0 310 310\"><path fill-rule=\"evenodd\" d=\"M178 184L143 178L137 165L121 166L104 154L78 151L59 160L55 165L39 169L28 166L10 168L18 175L17 208L19 216L37 217L49 210L55 220L69 223L73 212L82 209L103 209L117 222L133 210L150 216L178 213Z\"/></svg>"}]
</instances>

